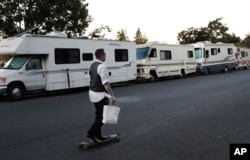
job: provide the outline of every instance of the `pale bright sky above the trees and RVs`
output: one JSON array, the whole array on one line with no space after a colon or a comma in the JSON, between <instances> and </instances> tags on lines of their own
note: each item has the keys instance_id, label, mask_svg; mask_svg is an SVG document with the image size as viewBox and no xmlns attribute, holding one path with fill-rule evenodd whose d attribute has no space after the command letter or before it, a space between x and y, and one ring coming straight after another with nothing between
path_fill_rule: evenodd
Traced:
<instances>
[{"instance_id":1,"label":"pale bright sky above the trees and RVs","mask_svg":"<svg viewBox=\"0 0 250 160\"><path fill-rule=\"evenodd\" d=\"M109 26L105 38L115 39L121 29L133 41L140 28L148 41L177 44L178 33L190 27L207 27L210 21L221 22L241 39L250 33L249 0L85 0L94 19L88 35L101 25Z\"/></svg>"}]
</instances>

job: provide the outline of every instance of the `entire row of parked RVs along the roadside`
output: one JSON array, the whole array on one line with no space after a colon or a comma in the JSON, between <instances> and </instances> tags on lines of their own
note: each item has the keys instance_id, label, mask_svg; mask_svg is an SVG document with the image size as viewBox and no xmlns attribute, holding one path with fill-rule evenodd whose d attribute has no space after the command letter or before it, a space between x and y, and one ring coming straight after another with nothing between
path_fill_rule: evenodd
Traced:
<instances>
[{"instance_id":1,"label":"entire row of parked RVs along the roadside","mask_svg":"<svg viewBox=\"0 0 250 160\"><path fill-rule=\"evenodd\" d=\"M12 58L0 69L0 95L19 100L30 91L89 86L94 52L104 48L111 83L177 76L194 72L227 72L249 68L250 49L234 44L135 45L134 42L69 39L24 34L0 40L0 55Z\"/></svg>"}]
</instances>

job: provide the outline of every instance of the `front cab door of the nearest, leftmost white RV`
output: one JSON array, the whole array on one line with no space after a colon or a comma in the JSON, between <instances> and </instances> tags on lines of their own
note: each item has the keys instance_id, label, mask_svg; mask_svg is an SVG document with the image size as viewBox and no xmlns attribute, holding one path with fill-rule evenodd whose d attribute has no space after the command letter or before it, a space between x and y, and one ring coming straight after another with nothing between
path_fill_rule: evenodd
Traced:
<instances>
[{"instance_id":1,"label":"front cab door of the nearest, leftmost white RV","mask_svg":"<svg viewBox=\"0 0 250 160\"><path fill-rule=\"evenodd\" d=\"M24 76L27 91L45 89L46 72L43 57L31 57L25 66Z\"/></svg>"}]
</instances>

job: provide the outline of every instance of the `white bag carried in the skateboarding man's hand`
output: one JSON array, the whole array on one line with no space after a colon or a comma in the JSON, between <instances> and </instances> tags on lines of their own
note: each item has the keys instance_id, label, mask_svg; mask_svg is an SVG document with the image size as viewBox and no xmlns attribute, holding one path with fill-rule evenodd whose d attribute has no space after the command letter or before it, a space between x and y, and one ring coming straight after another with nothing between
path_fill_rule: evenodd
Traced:
<instances>
[{"instance_id":1,"label":"white bag carried in the skateboarding man's hand","mask_svg":"<svg viewBox=\"0 0 250 160\"><path fill-rule=\"evenodd\" d=\"M116 105L104 105L102 123L117 124L119 113L120 107Z\"/></svg>"}]
</instances>

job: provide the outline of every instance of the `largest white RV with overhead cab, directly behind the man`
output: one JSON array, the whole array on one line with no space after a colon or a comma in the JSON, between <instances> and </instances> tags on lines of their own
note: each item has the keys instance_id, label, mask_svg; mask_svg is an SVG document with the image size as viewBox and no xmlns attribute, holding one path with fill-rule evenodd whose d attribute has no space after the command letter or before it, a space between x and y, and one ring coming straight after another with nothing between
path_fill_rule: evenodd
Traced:
<instances>
[{"instance_id":1,"label":"largest white RV with overhead cab, directly behind the man","mask_svg":"<svg viewBox=\"0 0 250 160\"><path fill-rule=\"evenodd\" d=\"M22 35L0 40L0 55L13 56L0 69L0 95L19 100L29 91L89 86L95 51L104 48L110 81L136 79L134 42Z\"/></svg>"}]
</instances>

